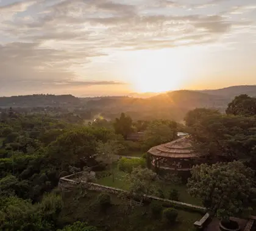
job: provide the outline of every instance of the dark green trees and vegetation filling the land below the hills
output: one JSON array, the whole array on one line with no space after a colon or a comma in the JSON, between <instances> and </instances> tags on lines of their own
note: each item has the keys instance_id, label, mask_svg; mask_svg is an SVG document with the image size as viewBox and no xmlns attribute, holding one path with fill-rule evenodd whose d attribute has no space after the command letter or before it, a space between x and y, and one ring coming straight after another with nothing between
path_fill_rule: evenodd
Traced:
<instances>
[{"instance_id":1,"label":"dark green trees and vegetation filling the land below the hills","mask_svg":"<svg viewBox=\"0 0 256 231\"><path fill-rule=\"evenodd\" d=\"M88 122L88 115L78 114L61 107L1 110L0 230L196 230L202 211L143 195L207 208L223 222L256 215L256 98L238 95L225 112L191 109L183 123L138 120L122 111L115 119ZM176 140L178 131L189 133L193 149L205 154L194 160L187 181L148 165L149 148ZM127 139L137 132L144 134L141 140ZM80 171L90 182L127 194L82 184L66 192L58 187L60 178Z\"/></svg>"}]
</instances>

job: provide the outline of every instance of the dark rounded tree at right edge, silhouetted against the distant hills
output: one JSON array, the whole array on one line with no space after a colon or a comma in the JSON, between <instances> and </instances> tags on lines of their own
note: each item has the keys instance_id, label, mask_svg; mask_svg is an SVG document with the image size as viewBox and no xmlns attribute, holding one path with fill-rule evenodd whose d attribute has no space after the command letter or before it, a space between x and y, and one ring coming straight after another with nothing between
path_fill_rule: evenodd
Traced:
<instances>
[{"instance_id":1,"label":"dark rounded tree at right edge, silhouetted against the distant hills","mask_svg":"<svg viewBox=\"0 0 256 231\"><path fill-rule=\"evenodd\" d=\"M246 94L238 95L229 103L226 113L235 116L256 116L256 98Z\"/></svg>"}]
</instances>

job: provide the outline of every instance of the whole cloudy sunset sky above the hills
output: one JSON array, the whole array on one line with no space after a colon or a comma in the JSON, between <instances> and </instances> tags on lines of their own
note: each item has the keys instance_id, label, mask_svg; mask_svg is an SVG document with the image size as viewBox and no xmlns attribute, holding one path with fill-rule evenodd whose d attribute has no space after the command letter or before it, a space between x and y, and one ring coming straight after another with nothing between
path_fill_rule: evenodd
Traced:
<instances>
[{"instance_id":1,"label":"whole cloudy sunset sky above the hills","mask_svg":"<svg viewBox=\"0 0 256 231\"><path fill-rule=\"evenodd\" d=\"M256 84L255 0L0 0L0 95Z\"/></svg>"}]
</instances>

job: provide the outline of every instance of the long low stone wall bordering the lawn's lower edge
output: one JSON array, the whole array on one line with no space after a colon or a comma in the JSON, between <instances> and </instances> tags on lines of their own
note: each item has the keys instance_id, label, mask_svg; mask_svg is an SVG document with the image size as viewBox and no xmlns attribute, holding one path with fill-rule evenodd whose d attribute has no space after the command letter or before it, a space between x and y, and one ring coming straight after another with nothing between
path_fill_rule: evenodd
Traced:
<instances>
[{"instance_id":1,"label":"long low stone wall bordering the lawn's lower edge","mask_svg":"<svg viewBox=\"0 0 256 231\"><path fill-rule=\"evenodd\" d=\"M71 174L69 176L65 176L64 178L60 178L59 187L64 191L72 190L72 188L75 187L75 185L79 184L79 182L76 181L76 176L79 174L81 174L81 173ZM102 191L105 193L112 193L115 195L118 195L119 193L127 192L126 190L122 190L120 188L113 188L113 187L89 183L89 182L85 182L85 181L80 181L80 182L82 182L82 184L88 190ZM180 201L171 201L168 199L158 198L157 196L150 196L150 195L144 195L144 198L149 201L160 201L166 205L168 205L168 204L174 205L174 207L180 207L183 209L187 208L187 209L196 210L197 212L202 212L202 213L207 212L207 209L205 207L201 207L201 206L197 206L197 205L193 205L193 204L187 204L187 203L180 202Z\"/></svg>"}]
</instances>

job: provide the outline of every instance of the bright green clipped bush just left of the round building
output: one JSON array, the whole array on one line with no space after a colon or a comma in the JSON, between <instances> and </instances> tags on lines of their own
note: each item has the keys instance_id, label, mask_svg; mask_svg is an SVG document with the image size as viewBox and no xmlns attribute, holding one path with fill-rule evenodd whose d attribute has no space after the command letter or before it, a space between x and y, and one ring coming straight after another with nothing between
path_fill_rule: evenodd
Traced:
<instances>
[{"instance_id":1,"label":"bright green clipped bush just left of the round building","mask_svg":"<svg viewBox=\"0 0 256 231\"><path fill-rule=\"evenodd\" d=\"M126 157L122 157L119 160L118 168L120 171L124 171L126 173L132 173L133 168L141 166L142 168L146 168L146 160L143 158L140 159L129 159Z\"/></svg>"}]
</instances>

